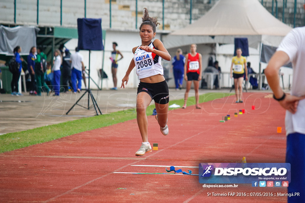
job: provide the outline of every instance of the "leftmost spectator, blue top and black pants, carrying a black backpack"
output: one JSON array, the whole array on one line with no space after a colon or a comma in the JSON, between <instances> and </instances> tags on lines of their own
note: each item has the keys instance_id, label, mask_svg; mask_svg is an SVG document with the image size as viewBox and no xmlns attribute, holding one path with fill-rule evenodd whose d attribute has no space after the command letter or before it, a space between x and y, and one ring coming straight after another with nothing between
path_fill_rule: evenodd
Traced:
<instances>
[{"instance_id":1,"label":"leftmost spectator, blue top and black pants, carrying a black backpack","mask_svg":"<svg viewBox=\"0 0 305 203\"><path fill-rule=\"evenodd\" d=\"M11 88L12 88L12 95L13 96L23 96L23 94L21 94L19 92L19 87L18 87L18 82L19 82L19 78L20 78L20 73L21 73L21 69L22 69L22 61L23 58L20 57L20 52L21 52L21 47L17 46L14 48L13 50L15 58L16 58L16 62L19 63L20 67L19 67L19 71L18 72L14 72L13 73L13 78L12 78L12 82L11 82Z\"/></svg>"}]
</instances>

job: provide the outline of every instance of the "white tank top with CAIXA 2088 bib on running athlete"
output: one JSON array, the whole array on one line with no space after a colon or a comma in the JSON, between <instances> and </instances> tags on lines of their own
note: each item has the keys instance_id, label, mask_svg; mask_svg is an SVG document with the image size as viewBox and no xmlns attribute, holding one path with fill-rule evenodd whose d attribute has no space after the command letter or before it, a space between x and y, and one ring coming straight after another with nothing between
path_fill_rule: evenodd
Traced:
<instances>
[{"instance_id":1,"label":"white tank top with CAIXA 2088 bib on running athlete","mask_svg":"<svg viewBox=\"0 0 305 203\"><path fill-rule=\"evenodd\" d=\"M152 75L163 75L161 57L152 52L146 52L139 49L139 47L135 50L134 56L135 68L139 79L147 78ZM155 49L153 42L149 44L149 47Z\"/></svg>"}]
</instances>

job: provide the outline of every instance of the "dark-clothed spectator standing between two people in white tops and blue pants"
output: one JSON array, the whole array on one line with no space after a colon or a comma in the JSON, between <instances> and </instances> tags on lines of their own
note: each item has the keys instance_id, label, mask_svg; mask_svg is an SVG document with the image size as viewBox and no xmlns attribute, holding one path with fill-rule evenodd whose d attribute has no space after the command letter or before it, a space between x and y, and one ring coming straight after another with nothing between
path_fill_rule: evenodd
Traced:
<instances>
[{"instance_id":1,"label":"dark-clothed spectator standing between two people in white tops and blue pants","mask_svg":"<svg viewBox=\"0 0 305 203\"><path fill-rule=\"evenodd\" d=\"M63 57L63 68L62 68L62 77L63 77L63 92L67 92L69 86L72 86L71 83L71 54L69 49L65 50L65 56Z\"/></svg>"}]
</instances>

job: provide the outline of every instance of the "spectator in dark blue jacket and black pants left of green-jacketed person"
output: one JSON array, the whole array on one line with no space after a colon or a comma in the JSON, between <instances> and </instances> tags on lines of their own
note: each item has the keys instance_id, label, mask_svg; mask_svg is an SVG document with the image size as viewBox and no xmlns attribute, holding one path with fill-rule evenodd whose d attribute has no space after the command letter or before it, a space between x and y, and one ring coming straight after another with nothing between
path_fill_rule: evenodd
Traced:
<instances>
[{"instance_id":1,"label":"spectator in dark blue jacket and black pants left of green-jacketed person","mask_svg":"<svg viewBox=\"0 0 305 203\"><path fill-rule=\"evenodd\" d=\"M35 60L36 47L31 47L30 54L27 56L27 70L31 76L30 95L37 95L36 77L35 77Z\"/></svg>"}]
</instances>

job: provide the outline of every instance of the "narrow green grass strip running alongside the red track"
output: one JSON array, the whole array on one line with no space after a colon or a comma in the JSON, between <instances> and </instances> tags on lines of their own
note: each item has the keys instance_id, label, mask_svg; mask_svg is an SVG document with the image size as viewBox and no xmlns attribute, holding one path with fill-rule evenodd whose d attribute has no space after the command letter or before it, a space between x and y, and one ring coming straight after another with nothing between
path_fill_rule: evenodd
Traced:
<instances>
[{"instance_id":1,"label":"narrow green grass strip running alongside the red track","mask_svg":"<svg viewBox=\"0 0 305 203\"><path fill-rule=\"evenodd\" d=\"M229 96L229 93L206 93L199 96L199 103L223 98ZM181 107L184 100L172 100L171 104L178 104ZM189 97L187 106L195 104L195 98ZM152 115L155 105L150 105L146 110L146 115ZM174 108L170 108L172 110ZM48 142L58 138L74 135L76 133L93 130L110 126L113 124L129 121L136 118L135 108L123 111L117 111L110 114L103 114L100 116L92 116L77 119L74 121L67 121L59 124L48 125L44 127L34 128L26 131L7 133L0 135L0 153L20 149L30 145L35 145L43 142Z\"/></svg>"}]
</instances>

